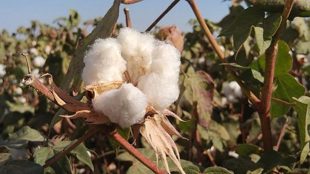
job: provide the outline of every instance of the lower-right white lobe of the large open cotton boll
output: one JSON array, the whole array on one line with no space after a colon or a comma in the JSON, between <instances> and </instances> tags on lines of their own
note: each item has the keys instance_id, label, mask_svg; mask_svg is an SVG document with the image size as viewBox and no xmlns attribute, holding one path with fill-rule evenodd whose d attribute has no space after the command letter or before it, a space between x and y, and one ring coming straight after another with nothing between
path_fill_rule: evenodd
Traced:
<instances>
[{"instance_id":1,"label":"lower-right white lobe of the large open cotton boll","mask_svg":"<svg viewBox=\"0 0 310 174\"><path fill-rule=\"evenodd\" d=\"M142 76L138 87L147 96L156 110L164 110L179 97L179 86L175 79L150 73Z\"/></svg>"}]
</instances>

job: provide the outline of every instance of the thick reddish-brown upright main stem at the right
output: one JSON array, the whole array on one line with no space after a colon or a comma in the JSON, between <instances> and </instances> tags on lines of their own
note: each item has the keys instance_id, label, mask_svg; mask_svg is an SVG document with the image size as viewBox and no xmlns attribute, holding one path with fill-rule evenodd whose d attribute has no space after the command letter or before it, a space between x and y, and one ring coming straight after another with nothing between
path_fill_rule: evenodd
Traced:
<instances>
[{"instance_id":1,"label":"thick reddish-brown upright main stem at the right","mask_svg":"<svg viewBox=\"0 0 310 174\"><path fill-rule=\"evenodd\" d=\"M281 36L282 30L286 27L286 19L291 12L293 4L294 0L286 0L284 10L282 12L282 21L280 23L279 29L275 33L274 37L272 38L270 46L267 48L265 52L266 62L265 62L263 90L261 92L262 101L260 103L260 109L258 110L262 125L264 150L273 149L271 127L270 127L270 103L273 89L273 77L278 54L278 41Z\"/></svg>"}]
</instances>

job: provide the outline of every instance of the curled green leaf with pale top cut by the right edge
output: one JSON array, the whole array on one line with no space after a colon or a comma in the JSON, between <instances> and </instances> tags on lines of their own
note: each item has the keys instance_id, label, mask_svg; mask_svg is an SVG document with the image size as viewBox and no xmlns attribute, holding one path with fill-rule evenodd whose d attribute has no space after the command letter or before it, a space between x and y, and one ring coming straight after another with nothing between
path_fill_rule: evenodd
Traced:
<instances>
[{"instance_id":1,"label":"curled green leaf with pale top cut by the right edge","mask_svg":"<svg viewBox=\"0 0 310 174\"><path fill-rule=\"evenodd\" d=\"M301 96L298 99L294 98L296 101L296 106L294 106L294 111L297 112L297 123L298 123L298 129L299 129L299 137L300 137L300 147L305 153L304 149L307 142L310 141L309 136L309 125L310 125L310 98L307 96ZM304 156L301 157L304 159ZM300 159L300 160L303 160Z\"/></svg>"}]
</instances>

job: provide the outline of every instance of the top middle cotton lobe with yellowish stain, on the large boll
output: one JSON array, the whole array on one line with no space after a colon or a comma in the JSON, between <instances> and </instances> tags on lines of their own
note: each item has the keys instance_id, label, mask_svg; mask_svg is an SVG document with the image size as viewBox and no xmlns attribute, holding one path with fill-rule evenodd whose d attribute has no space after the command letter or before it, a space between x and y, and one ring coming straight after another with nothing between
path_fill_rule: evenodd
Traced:
<instances>
[{"instance_id":1,"label":"top middle cotton lobe with yellowish stain, on the large boll","mask_svg":"<svg viewBox=\"0 0 310 174\"><path fill-rule=\"evenodd\" d=\"M127 61L131 81L135 84L151 64L155 39L151 34L124 28L120 30L117 40L122 46L122 56Z\"/></svg>"}]
</instances>

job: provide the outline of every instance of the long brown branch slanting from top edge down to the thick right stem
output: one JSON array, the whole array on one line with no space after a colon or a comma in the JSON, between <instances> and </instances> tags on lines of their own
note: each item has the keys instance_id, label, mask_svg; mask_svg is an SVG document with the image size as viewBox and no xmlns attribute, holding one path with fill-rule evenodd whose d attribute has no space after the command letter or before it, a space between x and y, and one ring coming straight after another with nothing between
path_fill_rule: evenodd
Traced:
<instances>
[{"instance_id":1,"label":"long brown branch slanting from top edge down to the thick right stem","mask_svg":"<svg viewBox=\"0 0 310 174\"><path fill-rule=\"evenodd\" d=\"M208 38L213 50L216 52L217 56L219 57L219 59L222 61L222 63L225 63L225 69L228 71L228 73L230 73L233 76L233 79L239 84L239 86L241 87L242 91L244 92L245 95L247 95L248 99L251 100L251 102L253 103L254 107L256 109L259 108L259 102L260 100L255 96L255 94L253 92L251 92L248 87L238 78L238 75L233 71L232 67L228 64L227 59L224 56L224 53L221 51L221 49L219 48L217 41L214 39L210 29L208 28L208 26L206 25L202 14L200 13L199 9L198 9L198 5L196 3L196 0L186 0L190 7L192 8L194 14L196 15L196 18L199 22L199 24L202 27L202 30L204 32L204 34L206 35L206 37Z\"/></svg>"}]
</instances>

